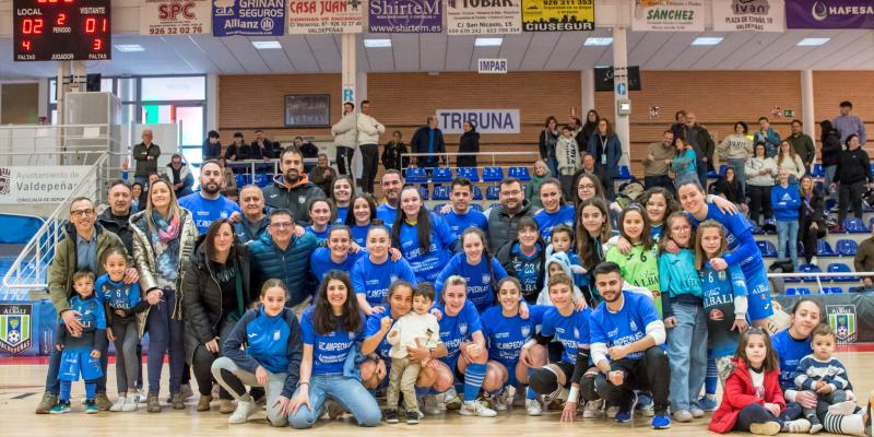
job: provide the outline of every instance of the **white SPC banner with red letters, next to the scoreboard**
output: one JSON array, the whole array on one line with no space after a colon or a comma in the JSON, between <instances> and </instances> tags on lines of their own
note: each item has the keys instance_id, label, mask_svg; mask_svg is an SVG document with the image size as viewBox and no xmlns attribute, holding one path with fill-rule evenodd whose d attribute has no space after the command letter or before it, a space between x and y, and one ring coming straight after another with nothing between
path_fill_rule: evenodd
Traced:
<instances>
[{"instance_id":1,"label":"white SPC banner with red letters, next to the scoreboard","mask_svg":"<svg viewBox=\"0 0 874 437\"><path fill-rule=\"evenodd\" d=\"M140 35L212 33L212 0L140 0Z\"/></svg>"}]
</instances>

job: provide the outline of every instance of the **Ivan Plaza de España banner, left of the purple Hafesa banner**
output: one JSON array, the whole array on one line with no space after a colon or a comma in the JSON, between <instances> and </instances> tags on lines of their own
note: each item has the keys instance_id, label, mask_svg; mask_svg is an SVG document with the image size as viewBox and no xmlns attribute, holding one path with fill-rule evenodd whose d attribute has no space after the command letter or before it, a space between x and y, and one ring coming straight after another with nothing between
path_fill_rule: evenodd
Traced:
<instances>
[{"instance_id":1,"label":"Ivan Plaza de Espa\u00f1a banner, left of the purple Hafesa banner","mask_svg":"<svg viewBox=\"0 0 874 437\"><path fill-rule=\"evenodd\" d=\"M713 0L716 32L783 32L783 0Z\"/></svg>"}]
</instances>

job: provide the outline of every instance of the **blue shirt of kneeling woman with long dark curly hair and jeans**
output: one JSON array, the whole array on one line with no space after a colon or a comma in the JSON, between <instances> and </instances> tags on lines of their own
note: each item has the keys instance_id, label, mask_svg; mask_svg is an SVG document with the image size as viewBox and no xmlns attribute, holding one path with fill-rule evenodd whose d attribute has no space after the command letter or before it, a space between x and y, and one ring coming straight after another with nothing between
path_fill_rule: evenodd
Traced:
<instances>
[{"instance_id":1,"label":"blue shirt of kneeling woman with long dark curly hair and jeans","mask_svg":"<svg viewBox=\"0 0 874 437\"><path fill-rule=\"evenodd\" d=\"M358 315L364 324L364 315ZM336 329L328 334L316 333L312 326L312 307L300 315L300 330L304 344L312 346L312 375L342 374L346 356L353 352L356 341L363 339L362 332L346 332Z\"/></svg>"}]
</instances>

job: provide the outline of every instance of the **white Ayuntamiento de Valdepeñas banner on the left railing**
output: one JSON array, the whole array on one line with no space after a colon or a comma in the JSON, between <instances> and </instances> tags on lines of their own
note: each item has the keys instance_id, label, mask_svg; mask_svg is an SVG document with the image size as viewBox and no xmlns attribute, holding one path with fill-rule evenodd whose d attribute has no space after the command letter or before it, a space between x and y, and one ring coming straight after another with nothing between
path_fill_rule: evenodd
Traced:
<instances>
[{"instance_id":1,"label":"white Ayuntamiento de Valdepe\u00f1as banner on the left railing","mask_svg":"<svg viewBox=\"0 0 874 437\"><path fill-rule=\"evenodd\" d=\"M0 166L0 204L58 203L67 199L91 167Z\"/></svg>"}]
</instances>

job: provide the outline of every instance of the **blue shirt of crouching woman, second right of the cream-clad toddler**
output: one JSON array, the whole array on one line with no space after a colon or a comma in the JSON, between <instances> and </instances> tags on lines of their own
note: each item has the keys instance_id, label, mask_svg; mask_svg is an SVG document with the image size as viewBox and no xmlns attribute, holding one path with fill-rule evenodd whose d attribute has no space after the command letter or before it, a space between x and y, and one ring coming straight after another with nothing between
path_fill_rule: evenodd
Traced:
<instances>
[{"instance_id":1,"label":"blue shirt of crouching woman, second right of the cream-clad toddler","mask_svg":"<svg viewBox=\"0 0 874 437\"><path fill-rule=\"evenodd\" d=\"M543 305L529 305L528 320L522 320L519 315L504 316L500 306L486 309L480 316L480 323L488 343L488 359L495 359L515 373L522 345L534 338L538 327L543 322L543 315L550 308Z\"/></svg>"}]
</instances>

